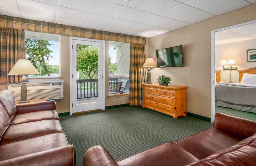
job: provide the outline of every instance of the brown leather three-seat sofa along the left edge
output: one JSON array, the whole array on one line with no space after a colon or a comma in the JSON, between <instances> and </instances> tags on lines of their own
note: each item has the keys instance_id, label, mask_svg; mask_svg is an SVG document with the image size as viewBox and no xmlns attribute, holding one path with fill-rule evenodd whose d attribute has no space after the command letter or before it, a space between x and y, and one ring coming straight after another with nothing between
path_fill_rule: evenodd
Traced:
<instances>
[{"instance_id":1,"label":"brown leather three-seat sofa along the left edge","mask_svg":"<svg viewBox=\"0 0 256 166\"><path fill-rule=\"evenodd\" d=\"M0 166L74 166L75 149L62 132L55 101L15 102L0 90Z\"/></svg>"}]
</instances>

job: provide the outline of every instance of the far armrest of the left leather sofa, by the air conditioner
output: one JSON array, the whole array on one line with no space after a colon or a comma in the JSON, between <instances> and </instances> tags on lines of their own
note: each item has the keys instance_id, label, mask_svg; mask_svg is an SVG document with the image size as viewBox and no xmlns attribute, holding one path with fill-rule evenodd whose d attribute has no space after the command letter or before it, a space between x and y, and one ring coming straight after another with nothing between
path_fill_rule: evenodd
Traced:
<instances>
[{"instance_id":1,"label":"far armrest of the left leather sofa, by the air conditioner","mask_svg":"<svg viewBox=\"0 0 256 166\"><path fill-rule=\"evenodd\" d=\"M55 110L55 101L45 101L45 102L27 102L16 104L17 115L29 112L44 111L44 110Z\"/></svg>"}]
</instances>

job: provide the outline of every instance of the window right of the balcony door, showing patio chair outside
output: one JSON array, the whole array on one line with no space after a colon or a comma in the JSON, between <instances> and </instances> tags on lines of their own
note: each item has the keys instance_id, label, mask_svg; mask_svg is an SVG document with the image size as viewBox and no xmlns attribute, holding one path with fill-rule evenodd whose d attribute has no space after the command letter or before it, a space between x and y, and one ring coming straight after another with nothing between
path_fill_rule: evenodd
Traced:
<instances>
[{"instance_id":1,"label":"window right of the balcony door, showing patio chair outside","mask_svg":"<svg viewBox=\"0 0 256 166\"><path fill-rule=\"evenodd\" d=\"M108 55L109 94L129 93L130 43L109 41Z\"/></svg>"}]
</instances>

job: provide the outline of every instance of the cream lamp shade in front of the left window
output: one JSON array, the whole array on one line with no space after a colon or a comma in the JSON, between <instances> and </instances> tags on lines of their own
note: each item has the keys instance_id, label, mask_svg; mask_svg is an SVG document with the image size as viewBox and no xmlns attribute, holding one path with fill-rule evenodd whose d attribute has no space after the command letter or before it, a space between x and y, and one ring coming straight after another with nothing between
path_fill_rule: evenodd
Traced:
<instances>
[{"instance_id":1,"label":"cream lamp shade in front of the left window","mask_svg":"<svg viewBox=\"0 0 256 166\"><path fill-rule=\"evenodd\" d=\"M39 74L28 59L19 59L8 75Z\"/></svg>"}]
</instances>

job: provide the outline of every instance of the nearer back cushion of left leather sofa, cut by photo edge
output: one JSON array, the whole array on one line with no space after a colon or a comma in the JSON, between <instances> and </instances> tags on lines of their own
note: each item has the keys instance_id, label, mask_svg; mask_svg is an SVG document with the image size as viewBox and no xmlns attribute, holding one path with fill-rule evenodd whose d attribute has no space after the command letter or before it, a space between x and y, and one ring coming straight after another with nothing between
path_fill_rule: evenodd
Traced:
<instances>
[{"instance_id":1,"label":"nearer back cushion of left leather sofa, cut by photo edge","mask_svg":"<svg viewBox=\"0 0 256 166\"><path fill-rule=\"evenodd\" d=\"M0 140L7 129L7 127L10 124L10 117L7 114L6 110L4 109L4 106L0 103Z\"/></svg>"}]
</instances>

